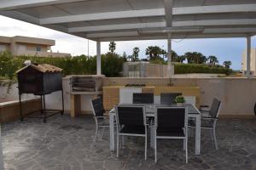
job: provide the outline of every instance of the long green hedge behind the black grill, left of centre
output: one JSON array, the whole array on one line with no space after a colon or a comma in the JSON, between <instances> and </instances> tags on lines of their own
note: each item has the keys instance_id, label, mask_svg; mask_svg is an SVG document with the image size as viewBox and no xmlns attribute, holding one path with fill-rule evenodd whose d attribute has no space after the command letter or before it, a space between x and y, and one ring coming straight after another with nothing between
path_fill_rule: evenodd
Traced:
<instances>
[{"instance_id":1,"label":"long green hedge behind the black grill, left of centre","mask_svg":"<svg viewBox=\"0 0 256 170\"><path fill-rule=\"evenodd\" d=\"M22 68L25 60L41 64L47 63L63 69L64 76L73 74L96 74L96 56L88 57L80 55L76 57L14 57L8 52L0 54L0 77L15 79L15 71ZM106 77L119 77L123 69L125 59L118 54L102 54L102 74Z\"/></svg>"}]
</instances>

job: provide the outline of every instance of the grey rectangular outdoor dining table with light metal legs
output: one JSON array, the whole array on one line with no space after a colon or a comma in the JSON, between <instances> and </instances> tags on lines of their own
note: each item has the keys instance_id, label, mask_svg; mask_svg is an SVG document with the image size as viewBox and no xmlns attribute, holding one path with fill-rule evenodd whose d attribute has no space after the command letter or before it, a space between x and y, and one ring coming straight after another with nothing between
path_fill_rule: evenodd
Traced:
<instances>
[{"instance_id":1,"label":"grey rectangular outdoor dining table with light metal legs","mask_svg":"<svg viewBox=\"0 0 256 170\"><path fill-rule=\"evenodd\" d=\"M121 105L121 104L120 104ZM131 105L131 106L136 106L136 105L144 105L145 106L145 112L147 117L154 117L156 114L156 107L177 107L177 105L161 105L161 104L124 104L124 105ZM186 107L186 110L188 112L188 118L194 118L195 119L195 155L200 155L201 151L201 112L195 107L195 105L191 104L184 104L184 107ZM114 120L115 120L115 110L114 108L109 111L109 146L110 150L115 149L115 143L114 143ZM152 130L151 130L151 137L150 137L150 145L154 146L154 139L152 135Z\"/></svg>"}]
</instances>

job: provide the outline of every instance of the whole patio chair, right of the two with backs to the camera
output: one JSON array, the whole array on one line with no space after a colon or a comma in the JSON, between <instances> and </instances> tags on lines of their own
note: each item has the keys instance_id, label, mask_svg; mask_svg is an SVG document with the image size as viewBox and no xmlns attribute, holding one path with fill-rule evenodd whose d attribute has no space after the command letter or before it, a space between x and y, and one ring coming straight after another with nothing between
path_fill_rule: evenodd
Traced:
<instances>
[{"instance_id":1,"label":"whole patio chair, right of the two with backs to the camera","mask_svg":"<svg viewBox=\"0 0 256 170\"><path fill-rule=\"evenodd\" d=\"M157 162L157 139L183 139L188 163L188 116L184 107L158 107L154 116L154 161Z\"/></svg>"}]
</instances>

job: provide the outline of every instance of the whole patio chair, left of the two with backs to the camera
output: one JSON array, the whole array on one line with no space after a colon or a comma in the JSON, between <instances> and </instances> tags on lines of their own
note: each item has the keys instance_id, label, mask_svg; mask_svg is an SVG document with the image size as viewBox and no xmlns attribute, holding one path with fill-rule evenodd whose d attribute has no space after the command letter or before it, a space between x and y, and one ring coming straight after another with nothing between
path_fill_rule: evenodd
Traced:
<instances>
[{"instance_id":1,"label":"whole patio chair, left of the two with backs to the camera","mask_svg":"<svg viewBox=\"0 0 256 170\"><path fill-rule=\"evenodd\" d=\"M145 160L147 159L147 123L144 106L117 105L117 157L120 137L137 136L145 138ZM122 142L121 142L122 144Z\"/></svg>"}]
</instances>

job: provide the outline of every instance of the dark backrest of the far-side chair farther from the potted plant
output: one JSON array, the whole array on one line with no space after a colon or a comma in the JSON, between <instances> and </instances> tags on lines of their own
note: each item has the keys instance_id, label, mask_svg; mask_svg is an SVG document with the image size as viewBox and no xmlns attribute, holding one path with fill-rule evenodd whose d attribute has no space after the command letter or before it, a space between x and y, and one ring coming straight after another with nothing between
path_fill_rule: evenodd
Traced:
<instances>
[{"instance_id":1,"label":"dark backrest of the far-side chair farther from the potted plant","mask_svg":"<svg viewBox=\"0 0 256 170\"><path fill-rule=\"evenodd\" d=\"M143 94L133 94L132 98L133 104L153 104L154 103L154 94L143 93Z\"/></svg>"}]
</instances>

